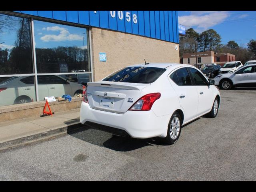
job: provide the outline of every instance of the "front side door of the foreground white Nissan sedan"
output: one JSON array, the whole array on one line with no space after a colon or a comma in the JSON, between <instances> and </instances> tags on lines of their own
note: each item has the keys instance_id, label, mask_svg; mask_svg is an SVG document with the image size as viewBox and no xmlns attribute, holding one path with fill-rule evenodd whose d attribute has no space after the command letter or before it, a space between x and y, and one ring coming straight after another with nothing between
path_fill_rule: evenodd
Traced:
<instances>
[{"instance_id":1,"label":"front side door of the foreground white Nissan sedan","mask_svg":"<svg viewBox=\"0 0 256 192\"><path fill-rule=\"evenodd\" d=\"M199 100L196 114L197 116L200 116L211 110L214 99L213 92L212 89L210 89L208 80L199 70L188 67L188 71L190 72L193 85L196 88L198 94Z\"/></svg>"}]
</instances>

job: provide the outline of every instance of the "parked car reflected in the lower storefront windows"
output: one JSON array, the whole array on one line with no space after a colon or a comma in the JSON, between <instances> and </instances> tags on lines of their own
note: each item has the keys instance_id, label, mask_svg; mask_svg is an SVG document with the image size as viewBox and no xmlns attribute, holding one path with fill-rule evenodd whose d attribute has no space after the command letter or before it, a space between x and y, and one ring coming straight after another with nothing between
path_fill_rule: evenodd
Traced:
<instances>
[{"instance_id":1,"label":"parked car reflected in the lower storefront windows","mask_svg":"<svg viewBox=\"0 0 256 192\"><path fill-rule=\"evenodd\" d=\"M44 97L82 94L82 85L58 75L38 76L39 100ZM11 77L0 83L0 106L36 101L34 76Z\"/></svg>"}]
</instances>

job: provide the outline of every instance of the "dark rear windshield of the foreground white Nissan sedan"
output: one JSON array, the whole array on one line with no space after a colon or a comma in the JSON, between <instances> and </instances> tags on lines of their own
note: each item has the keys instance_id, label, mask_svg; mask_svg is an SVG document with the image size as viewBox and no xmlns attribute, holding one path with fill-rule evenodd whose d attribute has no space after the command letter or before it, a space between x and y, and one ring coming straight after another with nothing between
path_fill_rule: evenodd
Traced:
<instances>
[{"instance_id":1,"label":"dark rear windshield of the foreground white Nissan sedan","mask_svg":"<svg viewBox=\"0 0 256 192\"><path fill-rule=\"evenodd\" d=\"M103 81L152 83L165 71L166 69L157 67L126 67L104 78Z\"/></svg>"}]
</instances>

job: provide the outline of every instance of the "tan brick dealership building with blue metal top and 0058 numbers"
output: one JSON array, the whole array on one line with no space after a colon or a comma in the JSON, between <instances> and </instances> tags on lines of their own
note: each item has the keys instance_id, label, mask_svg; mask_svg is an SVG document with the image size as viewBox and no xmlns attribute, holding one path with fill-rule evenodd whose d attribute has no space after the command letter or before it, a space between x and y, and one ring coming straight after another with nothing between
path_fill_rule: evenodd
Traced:
<instances>
[{"instance_id":1,"label":"tan brick dealership building with blue metal top and 0058 numbers","mask_svg":"<svg viewBox=\"0 0 256 192\"><path fill-rule=\"evenodd\" d=\"M179 63L185 30L177 11L0 11L0 25L0 114L144 60Z\"/></svg>"}]
</instances>

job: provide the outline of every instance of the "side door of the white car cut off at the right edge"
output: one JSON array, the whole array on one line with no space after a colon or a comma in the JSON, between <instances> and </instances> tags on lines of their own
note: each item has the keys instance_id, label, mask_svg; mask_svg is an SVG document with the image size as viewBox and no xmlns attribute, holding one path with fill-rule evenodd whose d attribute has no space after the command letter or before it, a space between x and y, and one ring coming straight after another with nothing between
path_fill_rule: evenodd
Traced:
<instances>
[{"instance_id":1,"label":"side door of the white car cut off at the right edge","mask_svg":"<svg viewBox=\"0 0 256 192\"><path fill-rule=\"evenodd\" d=\"M234 73L230 78L237 86L246 86L251 83L254 66L246 66Z\"/></svg>"}]
</instances>

